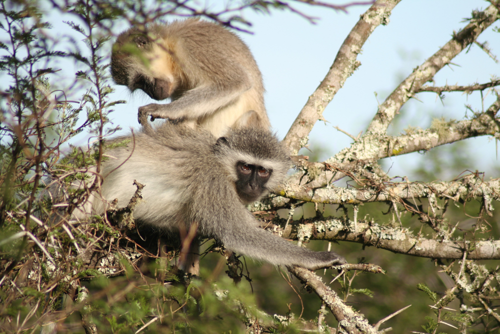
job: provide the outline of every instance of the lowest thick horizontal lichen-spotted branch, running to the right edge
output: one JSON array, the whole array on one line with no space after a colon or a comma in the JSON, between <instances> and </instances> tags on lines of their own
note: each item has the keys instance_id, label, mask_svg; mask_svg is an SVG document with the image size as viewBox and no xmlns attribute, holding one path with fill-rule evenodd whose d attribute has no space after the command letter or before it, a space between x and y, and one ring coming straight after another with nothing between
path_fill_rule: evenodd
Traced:
<instances>
[{"instance_id":1,"label":"lowest thick horizontal lichen-spotted branch, running to the right edge","mask_svg":"<svg viewBox=\"0 0 500 334\"><path fill-rule=\"evenodd\" d=\"M268 226L269 227L269 226ZM298 238L298 231L311 240L342 240L358 242L366 246L375 246L398 254L439 259L461 259L467 251L470 260L500 259L500 240L435 240L416 237L407 228L390 227L373 221L352 220L327 217L310 219L305 222L289 222L286 229L275 229L285 239Z\"/></svg>"}]
</instances>

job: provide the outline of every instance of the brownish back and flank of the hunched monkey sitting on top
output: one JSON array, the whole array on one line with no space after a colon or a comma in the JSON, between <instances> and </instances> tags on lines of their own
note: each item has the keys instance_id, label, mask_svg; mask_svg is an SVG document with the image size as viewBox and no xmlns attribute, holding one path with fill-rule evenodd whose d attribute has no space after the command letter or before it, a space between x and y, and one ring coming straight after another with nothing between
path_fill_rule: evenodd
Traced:
<instances>
[{"instance_id":1,"label":"brownish back and flank of the hunched monkey sitting on top","mask_svg":"<svg viewBox=\"0 0 500 334\"><path fill-rule=\"evenodd\" d=\"M213 83L220 91L234 89L231 87L233 85L244 86L244 93L229 106L233 112L227 113L221 109L199 119L198 126L217 129L221 125L232 125L240 115L254 110L261 118L262 125L269 128L263 103L262 75L250 50L238 36L217 24L197 19L175 21L151 29L158 29L158 35L163 36L166 45L174 48L176 61L184 72L183 77L188 80L184 83L185 89L209 83ZM190 78L195 80L189 81ZM218 132L222 133L222 130Z\"/></svg>"}]
</instances>

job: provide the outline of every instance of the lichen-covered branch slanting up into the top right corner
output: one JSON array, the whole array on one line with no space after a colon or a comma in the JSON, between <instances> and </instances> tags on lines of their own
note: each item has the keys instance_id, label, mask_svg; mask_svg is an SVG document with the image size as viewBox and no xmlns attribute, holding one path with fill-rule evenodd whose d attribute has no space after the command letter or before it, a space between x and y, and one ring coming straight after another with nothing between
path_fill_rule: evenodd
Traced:
<instances>
[{"instance_id":1,"label":"lichen-covered branch slanting up into the top right corner","mask_svg":"<svg viewBox=\"0 0 500 334\"><path fill-rule=\"evenodd\" d=\"M446 43L439 51L427 59L422 65L417 67L399 86L389 95L389 97L378 107L378 112L368 126L366 135L384 134L390 122L402 107L422 85L430 81L434 75L449 64L486 28L498 19L498 8L490 5L483 12L474 15L475 19L465 26L453 38Z\"/></svg>"}]
</instances>

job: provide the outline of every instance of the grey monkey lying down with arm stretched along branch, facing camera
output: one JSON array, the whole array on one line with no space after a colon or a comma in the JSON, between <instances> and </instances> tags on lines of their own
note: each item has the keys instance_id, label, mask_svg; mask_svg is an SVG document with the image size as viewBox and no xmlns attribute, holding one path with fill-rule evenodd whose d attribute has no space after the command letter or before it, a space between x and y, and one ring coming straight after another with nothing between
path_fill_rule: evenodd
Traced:
<instances>
[{"instance_id":1,"label":"grey monkey lying down with arm stretched along branch, facing camera","mask_svg":"<svg viewBox=\"0 0 500 334\"><path fill-rule=\"evenodd\" d=\"M131 141L126 147L106 151L111 158L102 163L100 191L105 201L93 200L94 213L115 198L118 207L126 206L137 180L145 185L133 211L139 226L178 234L196 224L196 238L215 238L231 251L275 265L315 270L345 263L334 252L311 251L264 231L245 208L276 189L290 167L286 150L269 130L242 127L215 139L167 121L136 134L133 152L131 136L116 141L126 138ZM192 245L197 253L197 243ZM190 257L188 272L197 272L196 260Z\"/></svg>"}]
</instances>

